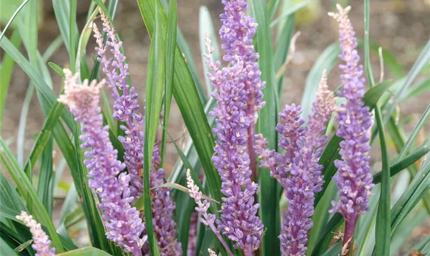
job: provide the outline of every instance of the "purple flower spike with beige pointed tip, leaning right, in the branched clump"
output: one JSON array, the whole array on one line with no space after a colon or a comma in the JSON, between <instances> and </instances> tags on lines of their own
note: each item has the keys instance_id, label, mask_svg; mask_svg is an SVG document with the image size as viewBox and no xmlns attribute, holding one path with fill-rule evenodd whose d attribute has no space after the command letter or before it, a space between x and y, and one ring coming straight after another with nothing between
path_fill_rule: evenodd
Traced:
<instances>
[{"instance_id":1,"label":"purple flower spike with beige pointed tip, leaning right, in the branched clump","mask_svg":"<svg viewBox=\"0 0 430 256\"><path fill-rule=\"evenodd\" d=\"M297 150L294 152L292 162L286 168L290 176L286 178L284 188L289 201L282 234L279 236L283 255L305 255L306 253L307 232L313 226L310 217L314 214L315 193L321 191L321 185L324 183L321 176L323 166L318 164L318 160L322 147L326 145L324 135L326 123L335 106L336 98L334 93L328 90L324 72L319 83L316 101L312 106L313 115L308 117L307 129L297 137L294 143Z\"/></svg>"}]
</instances>

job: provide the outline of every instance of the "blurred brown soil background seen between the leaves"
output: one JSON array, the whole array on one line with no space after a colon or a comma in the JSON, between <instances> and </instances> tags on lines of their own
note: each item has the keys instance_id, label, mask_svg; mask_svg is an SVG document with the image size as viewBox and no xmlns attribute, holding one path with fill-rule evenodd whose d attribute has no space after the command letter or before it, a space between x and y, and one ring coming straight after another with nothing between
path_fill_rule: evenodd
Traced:
<instances>
[{"instance_id":1,"label":"blurred brown soil background seen between the leaves","mask_svg":"<svg viewBox=\"0 0 430 256\"><path fill-rule=\"evenodd\" d=\"M44 52L51 42L59 35L52 2L49 0L39 0L39 37L38 48ZM299 3L302 0L291 0ZM5 4L8 2L7 4ZM187 39L192 55L203 77L201 51L199 46L199 9L206 6L211 13L214 27L220 28L219 15L223 12L221 0L178 0L178 25ZM13 4L15 3L15 5ZM22 3L20 0L0 0L0 23L4 27L13 11ZM79 29L85 23L90 0L78 0L78 27ZM338 38L337 26L334 20L327 15L327 12L335 8L335 4L342 6L351 5L350 18L356 30L358 38L363 35L363 1L361 0L315 0L307 7L301 9L296 14L296 31L301 35L297 38L295 44L295 54L287 67L284 79L284 92L282 95L282 104L296 103L299 104L303 95L306 77L311 70L314 62L319 55L332 42ZM279 14L277 14L279 15ZM430 0L372 0L371 1L371 23L370 38L372 42L381 45L384 49L389 50L398 60L400 65L407 72L418 57L422 48L430 38ZM140 94L141 106L144 105L145 98L145 78L146 65L150 40L143 24L138 6L135 0L121 0L115 16L115 26L118 34L123 40L123 46L127 56L127 62L130 65L132 86ZM2 28L3 28L2 27ZM10 33L6 34L10 36ZM219 40L219 38L212 38ZM96 57L93 50L95 40L90 40L87 48L89 63ZM24 52L24 51L23 51ZM4 52L0 50L0 59L3 58ZM360 55L363 56L362 51ZM65 47L61 47L50 59L60 67L68 67L69 55ZM372 68L376 81L379 80L380 66L379 58L376 54L372 56ZM332 89L339 84L337 78L339 72L336 68L330 73L329 83ZM385 78L392 77L389 71L385 69ZM54 81L54 91L59 94L61 87L61 78L52 71ZM430 63L424 69L423 77L430 77ZM23 100L29 84L29 78L19 68L15 68L11 86L6 97L6 109L4 113L4 123L2 136L10 143L13 151L16 150L17 127L19 116L22 111ZM400 119L408 120L405 126L406 132L410 132L418 121L427 105L430 103L430 93L425 93L414 98L414 101L405 101L401 105L402 113ZM175 104L175 103L174 103ZM179 142L186 141L186 132L184 132L182 117L176 107L173 106L170 115L169 132ZM35 131L40 131L44 122L44 116L37 103L36 95L33 95L29 108L29 114L26 126L25 136L25 153L28 154L37 136ZM409 127L409 128L408 128ZM409 129L409 130L408 130ZM421 138L429 135L430 124L427 123ZM167 148L168 157L166 158L166 173L173 168L177 154L173 145ZM58 154L59 155L59 154ZM375 154L375 162L378 160ZM26 156L25 156L26 157ZM59 157L57 157L59 158ZM68 173L68 172L65 172ZM68 180L68 177L65 177ZM71 181L71 179L70 179ZM421 230L414 230L417 234L430 234L428 225L423 226ZM411 239L414 239L412 236ZM413 241L411 241L413 242Z\"/></svg>"}]
</instances>

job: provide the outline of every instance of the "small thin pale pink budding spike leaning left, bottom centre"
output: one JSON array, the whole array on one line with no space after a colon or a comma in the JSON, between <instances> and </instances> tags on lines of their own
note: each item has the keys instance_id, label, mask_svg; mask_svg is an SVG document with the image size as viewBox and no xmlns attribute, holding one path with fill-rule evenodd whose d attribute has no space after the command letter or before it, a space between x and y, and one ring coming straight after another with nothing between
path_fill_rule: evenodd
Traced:
<instances>
[{"instance_id":1,"label":"small thin pale pink budding spike leaning left, bottom centre","mask_svg":"<svg viewBox=\"0 0 430 256\"><path fill-rule=\"evenodd\" d=\"M227 243L221 236L220 231L215 226L215 220L217 217L213 214L207 213L207 210L210 207L210 203L207 201L207 199L203 200L202 202L203 193L202 191L200 191L199 187L194 184L189 169L187 169L187 187L189 196L194 199L197 204L196 211L199 212L202 216L199 218L199 221L204 225L210 227L212 232L217 236L220 243L225 247L228 255L233 256L233 252L231 252L230 247L228 247Z\"/></svg>"}]
</instances>

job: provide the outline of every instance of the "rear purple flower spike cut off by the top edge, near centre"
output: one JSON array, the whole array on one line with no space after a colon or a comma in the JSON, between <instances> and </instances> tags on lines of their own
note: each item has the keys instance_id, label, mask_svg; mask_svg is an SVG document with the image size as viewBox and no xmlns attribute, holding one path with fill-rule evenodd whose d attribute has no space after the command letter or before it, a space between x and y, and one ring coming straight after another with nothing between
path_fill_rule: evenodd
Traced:
<instances>
[{"instance_id":1,"label":"rear purple flower spike cut off by the top edge, near centre","mask_svg":"<svg viewBox=\"0 0 430 256\"><path fill-rule=\"evenodd\" d=\"M241 60L241 67L244 69L242 75L246 100L244 101L246 104L244 111L251 122L247 128L247 147L252 178L255 179L256 163L253 150L255 123L258 116L257 112L265 105L262 90L266 83L261 81L261 71L259 63L256 61L259 58L259 54L254 52L254 46L252 45L252 38L258 24L253 17L245 14L248 9L247 1L223 0L222 4L224 5L224 13L220 15L222 22L220 36L224 41L222 49L226 51L223 59L229 62Z\"/></svg>"}]
</instances>

